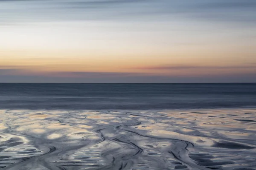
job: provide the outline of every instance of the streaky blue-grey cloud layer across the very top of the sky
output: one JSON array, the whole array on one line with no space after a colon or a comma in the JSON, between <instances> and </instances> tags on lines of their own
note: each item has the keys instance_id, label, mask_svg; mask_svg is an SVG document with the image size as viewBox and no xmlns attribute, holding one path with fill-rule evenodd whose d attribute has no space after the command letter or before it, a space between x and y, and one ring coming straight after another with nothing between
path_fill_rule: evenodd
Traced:
<instances>
[{"instance_id":1,"label":"streaky blue-grey cloud layer across the very top of the sky","mask_svg":"<svg viewBox=\"0 0 256 170\"><path fill-rule=\"evenodd\" d=\"M24 4L15 1L26 1ZM12 8L5 5L12 3ZM255 21L255 0L0 0L5 22L42 20L194 20ZM26 8L24 8L24 6ZM84 10L86 9L86 10ZM160 17L160 15L164 17ZM6 18L5 18L6 16ZM18 16L18 17L17 17ZM20 17L19 17L20 16ZM158 17L157 17L158 16ZM167 17L169 16L169 17ZM164 19L165 18L165 19Z\"/></svg>"}]
</instances>

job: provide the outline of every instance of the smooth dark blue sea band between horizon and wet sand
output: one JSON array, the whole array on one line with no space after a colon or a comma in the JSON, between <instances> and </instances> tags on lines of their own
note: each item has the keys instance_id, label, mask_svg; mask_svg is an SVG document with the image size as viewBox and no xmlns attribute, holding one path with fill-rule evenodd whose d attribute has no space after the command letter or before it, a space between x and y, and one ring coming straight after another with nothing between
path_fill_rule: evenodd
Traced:
<instances>
[{"instance_id":1,"label":"smooth dark blue sea band between horizon and wet sand","mask_svg":"<svg viewBox=\"0 0 256 170\"><path fill-rule=\"evenodd\" d=\"M0 109L189 109L256 106L256 83L1 83Z\"/></svg>"}]
</instances>

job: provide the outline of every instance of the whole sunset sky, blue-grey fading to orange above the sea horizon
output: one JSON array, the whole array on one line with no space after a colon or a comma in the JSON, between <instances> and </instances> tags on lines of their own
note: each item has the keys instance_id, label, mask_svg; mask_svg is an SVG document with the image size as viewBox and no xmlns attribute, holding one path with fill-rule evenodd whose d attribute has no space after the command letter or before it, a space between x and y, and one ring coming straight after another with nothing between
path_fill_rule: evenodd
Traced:
<instances>
[{"instance_id":1,"label":"whole sunset sky, blue-grey fading to orange above the sea horizon","mask_svg":"<svg viewBox=\"0 0 256 170\"><path fill-rule=\"evenodd\" d=\"M0 0L0 82L256 82L256 0Z\"/></svg>"}]
</instances>

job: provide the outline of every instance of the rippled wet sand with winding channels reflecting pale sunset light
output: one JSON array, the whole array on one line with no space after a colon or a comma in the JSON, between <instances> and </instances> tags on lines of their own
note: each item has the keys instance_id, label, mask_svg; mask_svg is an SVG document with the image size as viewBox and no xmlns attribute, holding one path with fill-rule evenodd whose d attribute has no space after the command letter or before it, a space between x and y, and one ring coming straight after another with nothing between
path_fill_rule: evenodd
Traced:
<instances>
[{"instance_id":1,"label":"rippled wet sand with winding channels reflecting pale sunset light","mask_svg":"<svg viewBox=\"0 0 256 170\"><path fill-rule=\"evenodd\" d=\"M1 170L256 170L256 110L0 110Z\"/></svg>"}]
</instances>

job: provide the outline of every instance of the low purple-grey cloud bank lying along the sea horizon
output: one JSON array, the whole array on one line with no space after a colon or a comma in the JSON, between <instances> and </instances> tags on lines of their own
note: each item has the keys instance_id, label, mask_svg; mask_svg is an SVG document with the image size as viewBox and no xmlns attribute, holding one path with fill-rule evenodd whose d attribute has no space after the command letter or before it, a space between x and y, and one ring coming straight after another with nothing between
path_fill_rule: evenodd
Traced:
<instances>
[{"instance_id":1,"label":"low purple-grey cloud bank lying along the sea horizon","mask_svg":"<svg viewBox=\"0 0 256 170\"><path fill-rule=\"evenodd\" d=\"M2 76L0 82L67 82L67 83L209 83L209 82L256 82L256 74L230 74L216 76L129 76L104 78L45 77L45 76Z\"/></svg>"}]
</instances>

